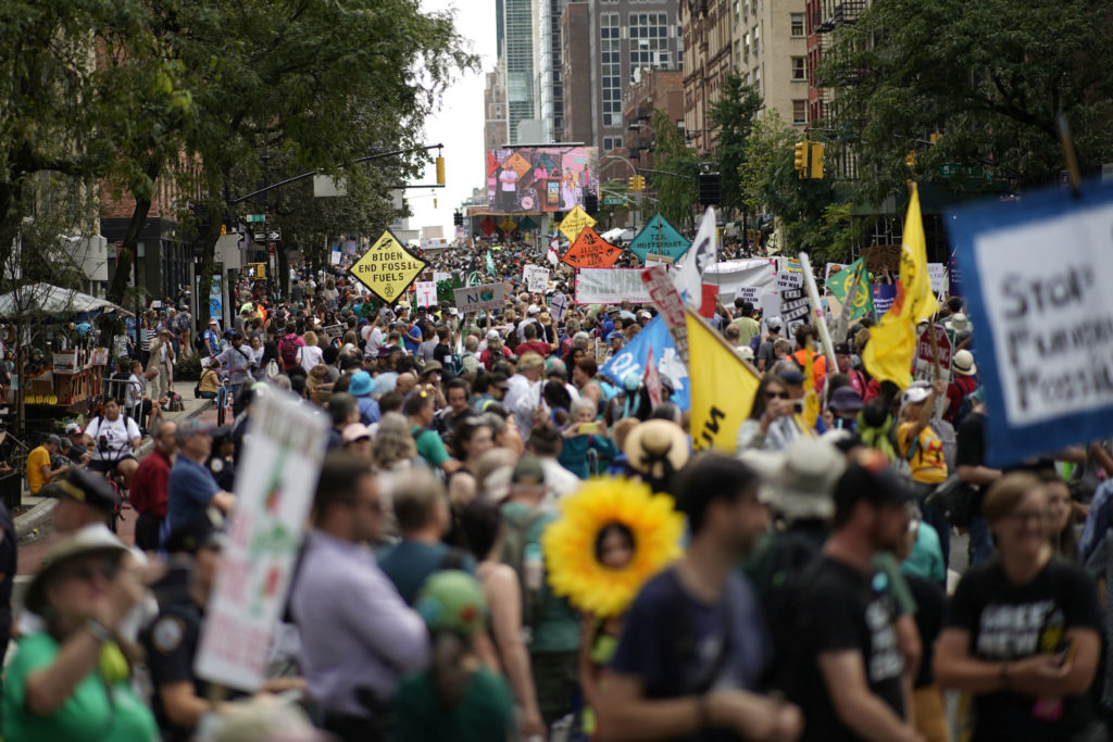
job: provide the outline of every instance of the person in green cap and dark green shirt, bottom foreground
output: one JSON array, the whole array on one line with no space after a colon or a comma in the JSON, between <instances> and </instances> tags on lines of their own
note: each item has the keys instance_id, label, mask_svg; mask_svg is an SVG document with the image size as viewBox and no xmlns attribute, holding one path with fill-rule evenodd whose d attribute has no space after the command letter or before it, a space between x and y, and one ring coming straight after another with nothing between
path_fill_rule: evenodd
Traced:
<instances>
[{"instance_id":1,"label":"person in green cap and dark green shirt, bottom foreground","mask_svg":"<svg viewBox=\"0 0 1113 742\"><path fill-rule=\"evenodd\" d=\"M446 570L431 576L417 596L429 625L433 665L410 675L394 700L394 739L508 740L514 734L506 681L480 661L475 637L487 631L487 606L479 582Z\"/></svg>"}]
</instances>

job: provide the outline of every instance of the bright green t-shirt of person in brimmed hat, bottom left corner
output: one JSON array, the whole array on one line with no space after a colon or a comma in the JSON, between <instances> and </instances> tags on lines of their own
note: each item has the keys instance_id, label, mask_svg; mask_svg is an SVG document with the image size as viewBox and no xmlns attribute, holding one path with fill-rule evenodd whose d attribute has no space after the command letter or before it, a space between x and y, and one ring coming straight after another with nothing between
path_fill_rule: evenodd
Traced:
<instances>
[{"instance_id":1,"label":"bright green t-shirt of person in brimmed hat, bottom left corner","mask_svg":"<svg viewBox=\"0 0 1113 742\"><path fill-rule=\"evenodd\" d=\"M6 742L144 742L158 740L155 714L126 680L106 685L98 670L86 675L55 713L39 716L27 710L27 676L49 666L59 652L50 634L21 639L3 683Z\"/></svg>"}]
</instances>

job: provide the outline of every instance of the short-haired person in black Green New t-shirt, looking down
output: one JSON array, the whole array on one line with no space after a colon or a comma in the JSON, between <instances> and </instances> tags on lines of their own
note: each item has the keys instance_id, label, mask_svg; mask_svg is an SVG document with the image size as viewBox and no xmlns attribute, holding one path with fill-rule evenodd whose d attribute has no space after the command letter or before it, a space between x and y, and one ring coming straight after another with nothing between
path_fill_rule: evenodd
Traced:
<instances>
[{"instance_id":1,"label":"short-haired person in black Green New t-shirt, looking down","mask_svg":"<svg viewBox=\"0 0 1113 742\"><path fill-rule=\"evenodd\" d=\"M973 742L1109 739L1087 696L1101 644L1097 593L1053 553L1046 486L1006 474L982 507L997 558L958 583L936 680L974 696Z\"/></svg>"}]
</instances>

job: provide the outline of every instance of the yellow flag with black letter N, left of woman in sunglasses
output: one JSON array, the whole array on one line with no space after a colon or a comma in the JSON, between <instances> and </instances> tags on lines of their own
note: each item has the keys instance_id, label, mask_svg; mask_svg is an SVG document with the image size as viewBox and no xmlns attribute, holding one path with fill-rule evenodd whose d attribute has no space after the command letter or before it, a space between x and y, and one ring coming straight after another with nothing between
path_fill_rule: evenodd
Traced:
<instances>
[{"instance_id":1,"label":"yellow flag with black letter N, left of woman in sunglasses","mask_svg":"<svg viewBox=\"0 0 1113 742\"><path fill-rule=\"evenodd\" d=\"M688 376L692 444L735 453L738 426L750 415L758 372L738 357L691 309L688 314Z\"/></svg>"}]
</instances>

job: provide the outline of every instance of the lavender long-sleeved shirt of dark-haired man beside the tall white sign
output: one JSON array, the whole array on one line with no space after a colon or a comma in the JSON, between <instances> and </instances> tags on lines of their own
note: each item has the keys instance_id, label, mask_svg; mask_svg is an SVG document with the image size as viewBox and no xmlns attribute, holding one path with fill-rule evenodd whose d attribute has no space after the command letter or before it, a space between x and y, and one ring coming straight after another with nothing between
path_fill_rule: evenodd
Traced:
<instances>
[{"instance_id":1,"label":"lavender long-sleeved shirt of dark-haired man beside the tall white sign","mask_svg":"<svg viewBox=\"0 0 1113 742\"><path fill-rule=\"evenodd\" d=\"M311 532L290 609L309 694L326 712L366 716L359 689L388 702L404 673L429 664L425 622L363 544Z\"/></svg>"}]
</instances>

